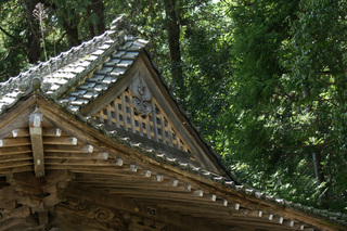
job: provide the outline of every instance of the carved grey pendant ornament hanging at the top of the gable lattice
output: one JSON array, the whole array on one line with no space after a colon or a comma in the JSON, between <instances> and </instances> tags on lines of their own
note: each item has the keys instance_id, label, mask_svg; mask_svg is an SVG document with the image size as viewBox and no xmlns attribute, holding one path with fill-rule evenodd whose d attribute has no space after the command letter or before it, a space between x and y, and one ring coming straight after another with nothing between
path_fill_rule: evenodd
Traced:
<instances>
[{"instance_id":1,"label":"carved grey pendant ornament hanging at the top of the gable lattice","mask_svg":"<svg viewBox=\"0 0 347 231\"><path fill-rule=\"evenodd\" d=\"M149 115L152 112L152 94L141 77L136 78L130 85L133 108L142 115Z\"/></svg>"}]
</instances>

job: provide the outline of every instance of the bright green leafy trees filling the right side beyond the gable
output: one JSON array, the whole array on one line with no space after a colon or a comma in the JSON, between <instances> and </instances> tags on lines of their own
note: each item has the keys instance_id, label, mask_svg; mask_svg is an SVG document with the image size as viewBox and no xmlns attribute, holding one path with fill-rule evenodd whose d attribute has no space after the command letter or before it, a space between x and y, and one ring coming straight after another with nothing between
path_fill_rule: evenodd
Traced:
<instances>
[{"instance_id":1,"label":"bright green leafy trees filling the right side beyond the gable","mask_svg":"<svg viewBox=\"0 0 347 231\"><path fill-rule=\"evenodd\" d=\"M272 0L231 8L236 72L227 159L247 163L261 178L257 187L343 210L346 9L340 1Z\"/></svg>"}]
</instances>

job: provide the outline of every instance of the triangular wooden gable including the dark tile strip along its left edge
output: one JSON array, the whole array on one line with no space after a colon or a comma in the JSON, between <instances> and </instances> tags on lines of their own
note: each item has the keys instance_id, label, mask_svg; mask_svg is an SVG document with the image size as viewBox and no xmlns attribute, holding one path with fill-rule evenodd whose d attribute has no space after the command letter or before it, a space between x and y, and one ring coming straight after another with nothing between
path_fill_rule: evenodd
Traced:
<instances>
[{"instance_id":1,"label":"triangular wooden gable including the dark tile strip along its left edge","mask_svg":"<svg viewBox=\"0 0 347 231\"><path fill-rule=\"evenodd\" d=\"M69 100L73 108L78 106L85 116L105 125L107 130L116 130L120 136L130 137L143 145L170 153L171 158L228 176L224 167L182 114L146 51L137 47L136 41L129 39L127 46L121 47L75 91L68 92L63 101ZM119 68L121 63L128 68L116 78L111 78L111 73ZM106 82L100 87L103 88L102 92L91 88L101 82ZM139 90L144 91L143 95ZM93 94L97 97L86 99L86 95Z\"/></svg>"}]
</instances>

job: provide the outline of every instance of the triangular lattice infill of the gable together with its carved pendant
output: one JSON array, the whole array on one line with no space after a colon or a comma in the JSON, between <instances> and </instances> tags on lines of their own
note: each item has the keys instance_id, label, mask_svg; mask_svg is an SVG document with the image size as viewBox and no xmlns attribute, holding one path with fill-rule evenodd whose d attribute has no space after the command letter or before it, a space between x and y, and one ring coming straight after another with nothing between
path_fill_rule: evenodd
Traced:
<instances>
[{"instance_id":1,"label":"triangular lattice infill of the gable together with its carved pendant","mask_svg":"<svg viewBox=\"0 0 347 231\"><path fill-rule=\"evenodd\" d=\"M140 76L113 102L97 113L93 119L190 152Z\"/></svg>"}]
</instances>

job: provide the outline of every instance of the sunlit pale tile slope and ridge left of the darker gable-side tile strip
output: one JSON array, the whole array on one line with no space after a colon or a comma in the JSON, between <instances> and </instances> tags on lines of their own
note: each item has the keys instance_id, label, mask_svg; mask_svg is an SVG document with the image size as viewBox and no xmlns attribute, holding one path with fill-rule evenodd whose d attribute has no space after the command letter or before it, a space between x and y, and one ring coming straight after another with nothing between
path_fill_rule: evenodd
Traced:
<instances>
[{"instance_id":1,"label":"sunlit pale tile slope and ridge left of the darker gable-side tile strip","mask_svg":"<svg viewBox=\"0 0 347 231\"><path fill-rule=\"evenodd\" d=\"M33 78L41 78L41 90L53 98L59 98L66 89L81 80L92 67L102 64L104 57L119 47L127 46L128 41L144 48L147 41L129 35L130 27L130 23L120 16L113 21L111 30L106 30L103 35L39 63L16 77L10 77L5 82L0 82L0 113L14 104L21 95L33 91Z\"/></svg>"}]
</instances>

